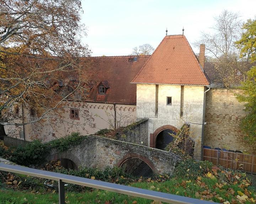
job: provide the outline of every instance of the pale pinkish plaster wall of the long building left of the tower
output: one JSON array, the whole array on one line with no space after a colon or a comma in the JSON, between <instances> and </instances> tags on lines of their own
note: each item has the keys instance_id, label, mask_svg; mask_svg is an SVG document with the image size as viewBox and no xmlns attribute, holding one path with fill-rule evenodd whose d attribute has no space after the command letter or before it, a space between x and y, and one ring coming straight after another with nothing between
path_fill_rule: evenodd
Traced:
<instances>
[{"instance_id":1,"label":"pale pinkish plaster wall of the long building left of the tower","mask_svg":"<svg viewBox=\"0 0 256 204\"><path fill-rule=\"evenodd\" d=\"M40 123L25 125L25 137L30 141L40 138L50 141L54 138L69 135L71 132L80 132L82 135L94 134L98 130L114 127L114 105L109 103L81 103L74 102L70 107L79 109L79 120L70 119L70 108L65 108L57 120L47 119ZM25 121L31 120L28 111L24 111ZM91 115L92 128L88 125L86 115ZM116 126L127 126L136 120L136 106L116 104ZM5 126L8 136L19 138L21 127ZM54 136L53 136L54 135Z\"/></svg>"}]
</instances>

